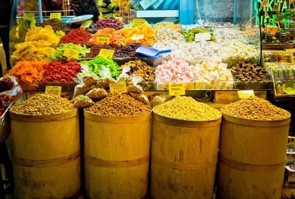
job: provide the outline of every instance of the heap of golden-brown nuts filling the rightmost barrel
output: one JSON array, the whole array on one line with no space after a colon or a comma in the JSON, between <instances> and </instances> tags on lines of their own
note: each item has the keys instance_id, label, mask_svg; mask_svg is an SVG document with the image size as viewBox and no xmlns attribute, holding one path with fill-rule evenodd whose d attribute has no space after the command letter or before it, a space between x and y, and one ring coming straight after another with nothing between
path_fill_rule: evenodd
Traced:
<instances>
[{"instance_id":1,"label":"heap of golden-brown nuts filling the rightmost barrel","mask_svg":"<svg viewBox=\"0 0 295 199\"><path fill-rule=\"evenodd\" d=\"M251 120L282 120L291 116L288 111L258 97L241 99L223 106L221 111L228 115Z\"/></svg>"}]
</instances>

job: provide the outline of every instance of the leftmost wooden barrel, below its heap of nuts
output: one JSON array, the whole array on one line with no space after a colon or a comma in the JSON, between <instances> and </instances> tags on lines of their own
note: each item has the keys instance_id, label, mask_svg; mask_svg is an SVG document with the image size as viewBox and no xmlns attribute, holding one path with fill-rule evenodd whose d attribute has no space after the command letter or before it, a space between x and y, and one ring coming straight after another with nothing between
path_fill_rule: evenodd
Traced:
<instances>
[{"instance_id":1,"label":"leftmost wooden barrel, below its heap of nuts","mask_svg":"<svg viewBox=\"0 0 295 199\"><path fill-rule=\"evenodd\" d=\"M42 116L10 112L10 118L15 198L78 198L78 110Z\"/></svg>"}]
</instances>

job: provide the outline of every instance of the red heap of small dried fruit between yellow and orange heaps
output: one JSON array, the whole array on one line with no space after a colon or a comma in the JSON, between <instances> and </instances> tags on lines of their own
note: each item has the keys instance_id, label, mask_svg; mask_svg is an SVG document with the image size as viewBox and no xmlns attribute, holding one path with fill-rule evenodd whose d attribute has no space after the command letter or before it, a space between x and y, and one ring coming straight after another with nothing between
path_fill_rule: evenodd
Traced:
<instances>
[{"instance_id":1,"label":"red heap of small dried fruit between yellow and orange heaps","mask_svg":"<svg viewBox=\"0 0 295 199\"><path fill-rule=\"evenodd\" d=\"M91 34L86 32L84 29L75 29L64 35L59 43L72 43L72 44L89 44Z\"/></svg>"}]
</instances>

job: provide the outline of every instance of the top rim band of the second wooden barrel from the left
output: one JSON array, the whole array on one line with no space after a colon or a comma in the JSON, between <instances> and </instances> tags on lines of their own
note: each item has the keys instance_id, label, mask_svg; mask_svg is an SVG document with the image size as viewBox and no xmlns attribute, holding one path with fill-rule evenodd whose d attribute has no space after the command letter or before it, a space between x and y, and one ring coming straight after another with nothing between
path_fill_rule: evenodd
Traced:
<instances>
[{"instance_id":1,"label":"top rim band of the second wooden barrel from the left","mask_svg":"<svg viewBox=\"0 0 295 199\"><path fill-rule=\"evenodd\" d=\"M89 111L84 109L84 117L89 120L102 122L102 123L115 123L115 124L126 124L126 123L137 123L144 122L151 118L151 111L144 115L137 116L106 116L106 115L98 115L94 113L90 113Z\"/></svg>"}]
</instances>

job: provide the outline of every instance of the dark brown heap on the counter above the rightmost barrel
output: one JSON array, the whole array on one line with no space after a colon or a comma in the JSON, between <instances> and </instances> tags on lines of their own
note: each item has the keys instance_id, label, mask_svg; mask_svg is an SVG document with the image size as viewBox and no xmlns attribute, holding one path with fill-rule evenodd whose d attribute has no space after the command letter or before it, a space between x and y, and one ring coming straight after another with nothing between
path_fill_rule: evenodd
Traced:
<instances>
[{"instance_id":1,"label":"dark brown heap on the counter above the rightmost barrel","mask_svg":"<svg viewBox=\"0 0 295 199\"><path fill-rule=\"evenodd\" d=\"M270 81L270 77L263 67L250 64L247 60L239 62L231 68L235 81Z\"/></svg>"}]
</instances>

